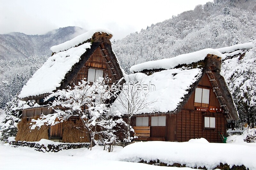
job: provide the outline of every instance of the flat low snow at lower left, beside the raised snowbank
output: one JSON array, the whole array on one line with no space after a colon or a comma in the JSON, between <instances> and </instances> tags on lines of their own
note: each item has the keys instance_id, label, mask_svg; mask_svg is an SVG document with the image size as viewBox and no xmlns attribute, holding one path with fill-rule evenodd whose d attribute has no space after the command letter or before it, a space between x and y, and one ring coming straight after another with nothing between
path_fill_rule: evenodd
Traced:
<instances>
[{"instance_id":1,"label":"flat low snow at lower left, beside the raised snowbank","mask_svg":"<svg viewBox=\"0 0 256 170\"><path fill-rule=\"evenodd\" d=\"M154 166L142 163L117 161L122 147L115 147L114 152L103 151L103 147L95 146L92 151L86 148L64 150L57 153L38 152L28 147L13 148L0 145L0 169L148 169L148 170L192 170Z\"/></svg>"}]
</instances>

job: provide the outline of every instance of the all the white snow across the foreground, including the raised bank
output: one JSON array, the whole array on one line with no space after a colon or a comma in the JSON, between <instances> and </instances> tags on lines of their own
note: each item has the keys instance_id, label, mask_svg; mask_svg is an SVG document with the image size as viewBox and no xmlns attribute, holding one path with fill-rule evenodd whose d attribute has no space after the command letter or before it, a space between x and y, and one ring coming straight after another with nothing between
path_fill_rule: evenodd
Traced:
<instances>
[{"instance_id":1,"label":"all the white snow across the foreground, including the raised bank","mask_svg":"<svg viewBox=\"0 0 256 170\"><path fill-rule=\"evenodd\" d=\"M208 143L203 138L180 143L137 142L124 148L116 146L110 153L103 151L102 146L95 146L92 151L81 148L43 153L28 147L13 148L9 144L1 144L0 165L1 169L192 169L128 162L159 159L167 164L178 162L191 167L205 165L209 169L216 167L220 162L229 165L243 164L249 169L256 169L253 158L255 153L256 143Z\"/></svg>"}]
</instances>

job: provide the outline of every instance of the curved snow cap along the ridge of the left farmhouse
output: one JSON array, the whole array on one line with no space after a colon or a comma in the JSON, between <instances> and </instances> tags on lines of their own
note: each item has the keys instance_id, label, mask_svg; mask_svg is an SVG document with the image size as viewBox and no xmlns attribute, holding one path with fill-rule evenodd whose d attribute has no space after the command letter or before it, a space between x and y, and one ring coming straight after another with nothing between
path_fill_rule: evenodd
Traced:
<instances>
[{"instance_id":1,"label":"curved snow cap along the ridge of the left farmhouse","mask_svg":"<svg viewBox=\"0 0 256 170\"><path fill-rule=\"evenodd\" d=\"M104 32L104 33L108 33L108 34L111 34L111 35L114 34L112 31L110 31L109 29L105 29L105 28L92 29L90 31L87 31L84 34L76 36L75 38L73 38L69 41L61 43L59 45L52 46L51 50L52 50L52 52L56 52L56 53L60 52L60 51L68 50L68 49L70 49L72 47L75 47L76 45L78 45L80 43L83 43L84 41L92 38L93 34L97 33L97 32Z\"/></svg>"}]
</instances>

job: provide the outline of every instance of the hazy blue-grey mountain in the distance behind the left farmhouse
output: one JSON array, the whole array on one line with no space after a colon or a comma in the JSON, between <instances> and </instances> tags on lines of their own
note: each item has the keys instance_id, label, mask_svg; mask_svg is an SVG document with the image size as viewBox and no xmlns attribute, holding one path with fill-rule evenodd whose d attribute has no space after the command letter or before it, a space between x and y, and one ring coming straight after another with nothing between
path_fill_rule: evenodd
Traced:
<instances>
[{"instance_id":1,"label":"hazy blue-grey mountain in the distance behind the left farmhouse","mask_svg":"<svg viewBox=\"0 0 256 170\"><path fill-rule=\"evenodd\" d=\"M51 56L50 48L86 32L80 27L64 27L44 35L26 35L12 32L0 35L0 59Z\"/></svg>"}]
</instances>

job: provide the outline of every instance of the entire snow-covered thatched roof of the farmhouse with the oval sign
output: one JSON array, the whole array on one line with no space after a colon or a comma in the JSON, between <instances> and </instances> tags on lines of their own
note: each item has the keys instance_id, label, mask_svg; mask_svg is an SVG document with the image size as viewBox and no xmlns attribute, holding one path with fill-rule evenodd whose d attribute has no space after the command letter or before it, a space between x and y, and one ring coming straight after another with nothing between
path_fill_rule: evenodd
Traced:
<instances>
[{"instance_id":1,"label":"entire snow-covered thatched roof of the farmhouse with the oval sign","mask_svg":"<svg viewBox=\"0 0 256 170\"><path fill-rule=\"evenodd\" d=\"M223 99L220 105L227 105L224 111L229 119L237 119L237 111L224 78L220 75L221 58L225 58L218 50L204 49L193 53L183 54L174 58L166 58L149 61L132 66L130 71L135 72L126 75L127 81L134 81L140 85L154 85L151 91L141 91L140 96L146 96L146 107L136 112L141 113L177 113L187 103L192 92L207 73L209 79L214 80L213 87ZM141 72L141 73L140 73ZM212 81L213 82L213 81ZM125 98L127 91L123 89L119 98ZM147 95L145 95L147 93ZM216 95L216 96L218 96ZM127 98L127 97L126 97ZM113 110L119 110L127 114L120 100L116 100Z\"/></svg>"}]
</instances>

